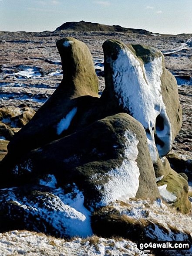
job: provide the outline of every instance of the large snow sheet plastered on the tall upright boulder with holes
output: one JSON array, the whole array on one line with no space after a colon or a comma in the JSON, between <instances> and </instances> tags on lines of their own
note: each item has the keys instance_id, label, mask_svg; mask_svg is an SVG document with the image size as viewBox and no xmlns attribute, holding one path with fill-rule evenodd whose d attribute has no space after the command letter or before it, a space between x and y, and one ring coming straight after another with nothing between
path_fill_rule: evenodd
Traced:
<instances>
[{"instance_id":1,"label":"large snow sheet plastered on the tall upright boulder with holes","mask_svg":"<svg viewBox=\"0 0 192 256\"><path fill-rule=\"evenodd\" d=\"M119 104L125 110L131 112L131 116L137 119L148 129L147 137L155 147L155 123L158 115L162 116L164 129L158 131L158 137L164 146L158 146L158 153L164 156L171 149L172 130L166 107L161 94L162 57L155 58L141 67L136 58L128 48L121 49L118 58L112 61L113 82ZM156 127L157 128L157 127ZM155 150L150 143L152 158Z\"/></svg>"}]
</instances>

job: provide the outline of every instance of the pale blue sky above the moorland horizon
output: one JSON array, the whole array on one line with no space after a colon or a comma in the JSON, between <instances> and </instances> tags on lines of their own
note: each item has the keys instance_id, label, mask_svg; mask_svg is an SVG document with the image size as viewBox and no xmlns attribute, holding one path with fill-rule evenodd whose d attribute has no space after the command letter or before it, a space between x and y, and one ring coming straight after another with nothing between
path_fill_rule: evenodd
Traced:
<instances>
[{"instance_id":1,"label":"pale blue sky above the moorland horizon","mask_svg":"<svg viewBox=\"0 0 192 256\"><path fill-rule=\"evenodd\" d=\"M0 31L54 31L81 20L192 33L192 0L0 0Z\"/></svg>"}]
</instances>

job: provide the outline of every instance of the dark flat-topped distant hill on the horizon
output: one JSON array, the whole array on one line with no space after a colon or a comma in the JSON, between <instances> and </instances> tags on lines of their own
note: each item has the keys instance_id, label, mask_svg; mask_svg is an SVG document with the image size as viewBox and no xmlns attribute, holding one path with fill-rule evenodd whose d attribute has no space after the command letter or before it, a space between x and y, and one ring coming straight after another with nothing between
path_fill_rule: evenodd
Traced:
<instances>
[{"instance_id":1,"label":"dark flat-topped distant hill on the horizon","mask_svg":"<svg viewBox=\"0 0 192 256\"><path fill-rule=\"evenodd\" d=\"M73 31L111 31L111 32L129 32L129 33L138 33L151 35L152 33L145 29L136 29L136 28L127 28L121 27L118 25L103 25L99 23L92 23L89 21L70 21L65 22L60 27L57 27L55 31L61 30L73 30Z\"/></svg>"}]
</instances>

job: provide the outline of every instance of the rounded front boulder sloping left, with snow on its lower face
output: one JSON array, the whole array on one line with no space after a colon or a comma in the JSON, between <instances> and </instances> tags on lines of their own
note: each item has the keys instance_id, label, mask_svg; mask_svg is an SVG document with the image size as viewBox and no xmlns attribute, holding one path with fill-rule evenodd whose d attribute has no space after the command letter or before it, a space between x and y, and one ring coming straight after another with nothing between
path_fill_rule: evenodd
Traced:
<instances>
[{"instance_id":1,"label":"rounded front boulder sloping left, with snow on its lower face","mask_svg":"<svg viewBox=\"0 0 192 256\"><path fill-rule=\"evenodd\" d=\"M145 130L126 113L31 151L4 174L4 186L31 183L46 173L64 189L76 184L90 209L115 200L160 197Z\"/></svg>"}]
</instances>

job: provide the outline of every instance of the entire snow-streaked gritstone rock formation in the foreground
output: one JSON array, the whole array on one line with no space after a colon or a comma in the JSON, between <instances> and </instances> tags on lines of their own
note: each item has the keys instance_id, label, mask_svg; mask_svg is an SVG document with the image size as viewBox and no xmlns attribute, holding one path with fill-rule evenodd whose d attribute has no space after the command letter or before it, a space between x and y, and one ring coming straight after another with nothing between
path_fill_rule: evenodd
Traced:
<instances>
[{"instance_id":1,"label":"entire snow-streaked gritstone rock formation in the foreground","mask_svg":"<svg viewBox=\"0 0 192 256\"><path fill-rule=\"evenodd\" d=\"M153 229L150 221L131 222L118 212L117 204L126 210L132 198L156 200L162 207L161 197L188 213L186 177L173 171L164 157L181 127L182 111L162 53L116 40L104 42L106 87L99 98L86 45L64 38L57 48L63 80L14 135L1 163L1 230L13 226L54 236L87 236L91 227L100 233L102 223L112 230L110 223L117 220L122 229L125 226L119 236L127 238L141 229L146 235ZM54 177L54 187L43 181L47 175ZM61 215L66 219L61 221Z\"/></svg>"}]
</instances>

